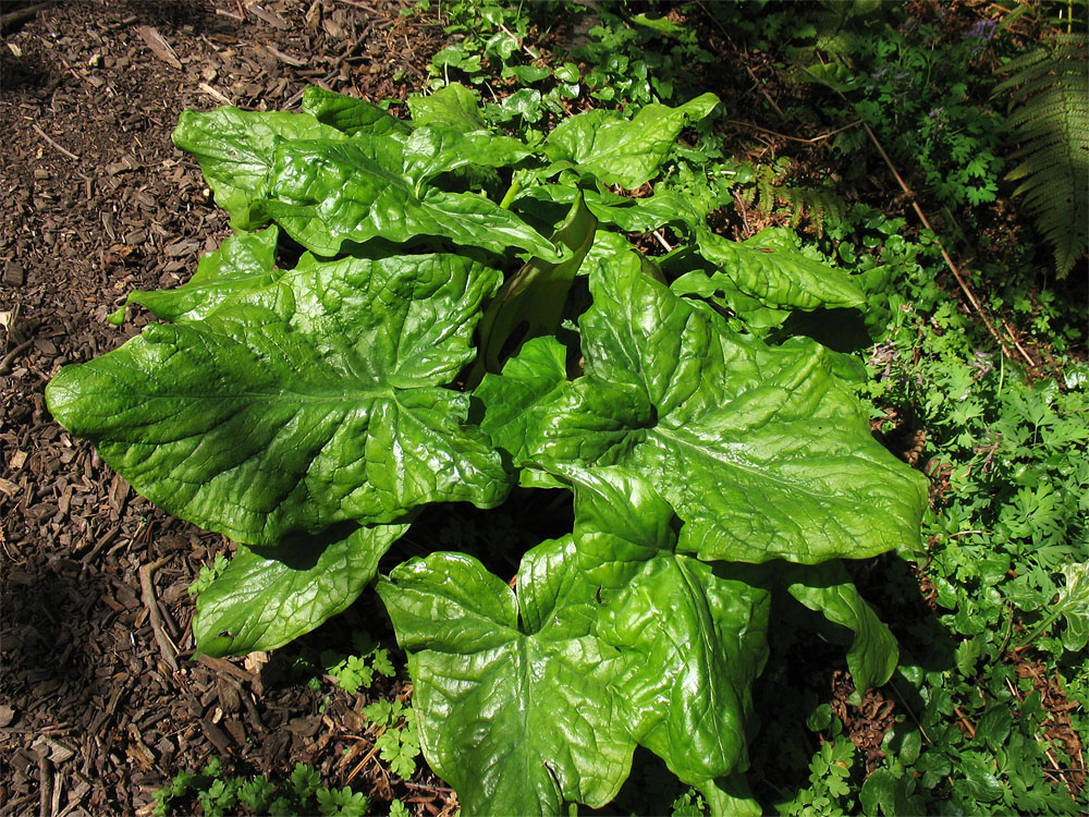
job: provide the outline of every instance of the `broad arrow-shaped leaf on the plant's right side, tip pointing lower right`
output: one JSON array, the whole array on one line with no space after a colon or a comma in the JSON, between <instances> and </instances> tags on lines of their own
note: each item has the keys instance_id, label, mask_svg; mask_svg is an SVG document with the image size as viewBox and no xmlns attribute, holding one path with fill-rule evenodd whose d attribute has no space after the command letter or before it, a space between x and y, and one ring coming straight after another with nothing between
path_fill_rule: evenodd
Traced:
<instances>
[{"instance_id":1,"label":"broad arrow-shaped leaf on the plant's right side, tip pointing lower right","mask_svg":"<svg viewBox=\"0 0 1089 817\"><path fill-rule=\"evenodd\" d=\"M817 563L918 540L925 479L873 440L821 346L739 336L629 265L590 289L586 377L535 411L530 451L646 475L701 559Z\"/></svg>"}]
</instances>

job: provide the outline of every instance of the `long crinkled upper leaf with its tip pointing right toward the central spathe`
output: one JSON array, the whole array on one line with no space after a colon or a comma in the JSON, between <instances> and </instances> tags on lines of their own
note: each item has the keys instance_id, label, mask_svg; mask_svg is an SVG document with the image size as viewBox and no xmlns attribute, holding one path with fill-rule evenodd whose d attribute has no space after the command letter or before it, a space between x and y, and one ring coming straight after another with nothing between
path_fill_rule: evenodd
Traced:
<instances>
[{"instance_id":1,"label":"long crinkled upper leaf with its tip pointing right toward the central spathe","mask_svg":"<svg viewBox=\"0 0 1089 817\"><path fill-rule=\"evenodd\" d=\"M335 255L346 241L441 235L495 253L516 246L559 260L540 233L488 198L419 188L409 170L426 178L436 167L455 167L449 156L418 166L415 154L391 139L283 143L269 171L265 207L295 241L319 255Z\"/></svg>"}]
</instances>

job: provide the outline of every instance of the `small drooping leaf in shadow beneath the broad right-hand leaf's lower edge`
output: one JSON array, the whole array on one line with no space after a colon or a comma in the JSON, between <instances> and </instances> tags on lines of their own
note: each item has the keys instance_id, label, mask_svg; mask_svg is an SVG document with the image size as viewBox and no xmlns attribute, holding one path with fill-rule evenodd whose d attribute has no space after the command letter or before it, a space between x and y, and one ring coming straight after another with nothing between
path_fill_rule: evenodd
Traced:
<instances>
[{"instance_id":1,"label":"small drooping leaf in shadow beneath the broad right-hand leaf's lower edge","mask_svg":"<svg viewBox=\"0 0 1089 817\"><path fill-rule=\"evenodd\" d=\"M861 706L867 690L892 678L900 660L896 638L862 599L842 562L783 565L783 570L786 589L794 598L854 633L847 650L847 669L855 683L851 702Z\"/></svg>"}]
</instances>

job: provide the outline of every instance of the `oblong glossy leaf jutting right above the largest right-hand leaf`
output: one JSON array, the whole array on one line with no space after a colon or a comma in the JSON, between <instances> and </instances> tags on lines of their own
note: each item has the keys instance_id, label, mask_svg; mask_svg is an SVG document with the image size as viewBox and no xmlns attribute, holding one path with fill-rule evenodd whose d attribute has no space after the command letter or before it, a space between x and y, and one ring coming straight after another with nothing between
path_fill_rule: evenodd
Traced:
<instances>
[{"instance_id":1,"label":"oblong glossy leaf jutting right above the largest right-hand leaf","mask_svg":"<svg viewBox=\"0 0 1089 817\"><path fill-rule=\"evenodd\" d=\"M770 307L862 306L866 295L841 270L804 255L696 231L700 254L745 295Z\"/></svg>"}]
</instances>

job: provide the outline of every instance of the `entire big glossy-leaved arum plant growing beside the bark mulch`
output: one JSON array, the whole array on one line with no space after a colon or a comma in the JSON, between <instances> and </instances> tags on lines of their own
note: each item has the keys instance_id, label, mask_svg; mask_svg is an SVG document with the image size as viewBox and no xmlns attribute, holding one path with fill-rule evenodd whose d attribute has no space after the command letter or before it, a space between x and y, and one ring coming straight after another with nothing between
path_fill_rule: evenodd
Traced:
<instances>
[{"instance_id":1,"label":"entire big glossy-leaved arum plant growing beside the bark mulch","mask_svg":"<svg viewBox=\"0 0 1089 817\"><path fill-rule=\"evenodd\" d=\"M713 812L758 812L773 603L847 634L859 691L888 680L895 642L842 560L915 547L923 481L870 436L852 358L788 330L862 290L782 236L714 234L666 184L617 194L717 105L592 110L536 146L457 85L411 122L319 88L301 113L182 115L237 232L132 293L162 322L47 397L136 490L240 542L200 650L279 647L377 585L424 753L470 814L602 806L637 745ZM626 237L664 225L665 256ZM516 581L458 552L378 575L423 507L516 485L575 509Z\"/></svg>"}]
</instances>

